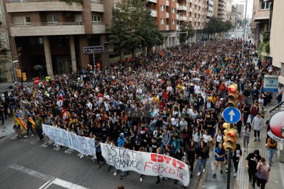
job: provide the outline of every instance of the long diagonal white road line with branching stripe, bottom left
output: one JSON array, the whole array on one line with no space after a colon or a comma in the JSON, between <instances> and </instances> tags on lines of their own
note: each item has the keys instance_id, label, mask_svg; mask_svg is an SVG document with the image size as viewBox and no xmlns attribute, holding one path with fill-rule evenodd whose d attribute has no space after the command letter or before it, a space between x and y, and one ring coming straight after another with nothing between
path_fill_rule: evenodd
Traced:
<instances>
[{"instance_id":1,"label":"long diagonal white road line with branching stripe, bottom left","mask_svg":"<svg viewBox=\"0 0 284 189\"><path fill-rule=\"evenodd\" d=\"M40 188L38 188L38 189L46 189L49 186L51 186L51 184L56 184L58 186L61 186L63 188L67 188L67 189L88 189L88 188L85 188L84 186L80 186L78 184L73 184L69 181L64 181L62 179L58 179L58 178L52 177L50 175L45 175L44 173L40 173L38 171L26 168L24 166L20 166L18 164L12 164L12 166L10 166L10 168L12 168L16 171L20 171L22 173L25 173L27 175L31 175L33 177L47 181L45 184L43 184L43 186L40 186Z\"/></svg>"}]
</instances>

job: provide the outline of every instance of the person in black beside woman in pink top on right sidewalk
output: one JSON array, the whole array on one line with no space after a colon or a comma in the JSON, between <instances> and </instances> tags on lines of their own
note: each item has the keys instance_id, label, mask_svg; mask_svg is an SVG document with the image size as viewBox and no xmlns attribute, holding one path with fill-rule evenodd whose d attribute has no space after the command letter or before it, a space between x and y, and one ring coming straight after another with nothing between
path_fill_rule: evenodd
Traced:
<instances>
[{"instance_id":1,"label":"person in black beside woman in pink top on right sidewalk","mask_svg":"<svg viewBox=\"0 0 284 189\"><path fill-rule=\"evenodd\" d=\"M255 182L257 181L255 173L257 173L257 164L260 160L259 150L249 153L248 157L246 157L246 167L248 168L248 177L249 181L252 182L252 188L255 188Z\"/></svg>"}]
</instances>

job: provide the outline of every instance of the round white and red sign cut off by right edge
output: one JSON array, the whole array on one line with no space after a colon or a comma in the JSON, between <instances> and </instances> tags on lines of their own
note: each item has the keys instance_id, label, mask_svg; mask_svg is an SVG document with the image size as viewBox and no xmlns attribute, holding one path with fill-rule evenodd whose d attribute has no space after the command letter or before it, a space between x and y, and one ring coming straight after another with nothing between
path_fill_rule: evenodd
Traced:
<instances>
[{"instance_id":1,"label":"round white and red sign cut off by right edge","mask_svg":"<svg viewBox=\"0 0 284 189\"><path fill-rule=\"evenodd\" d=\"M277 142L284 143L284 111L277 112L270 118L268 136Z\"/></svg>"}]
</instances>

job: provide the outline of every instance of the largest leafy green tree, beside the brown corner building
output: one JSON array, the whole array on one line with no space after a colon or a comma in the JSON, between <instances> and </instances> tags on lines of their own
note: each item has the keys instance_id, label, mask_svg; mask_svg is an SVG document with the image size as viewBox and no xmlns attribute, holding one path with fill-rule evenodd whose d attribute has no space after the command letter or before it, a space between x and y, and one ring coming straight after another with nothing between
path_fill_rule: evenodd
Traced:
<instances>
[{"instance_id":1,"label":"largest leafy green tree, beside the brown corner building","mask_svg":"<svg viewBox=\"0 0 284 189\"><path fill-rule=\"evenodd\" d=\"M110 44L114 51L131 51L153 47L163 43L163 34L158 29L151 11L145 8L145 2L126 0L113 8Z\"/></svg>"}]
</instances>

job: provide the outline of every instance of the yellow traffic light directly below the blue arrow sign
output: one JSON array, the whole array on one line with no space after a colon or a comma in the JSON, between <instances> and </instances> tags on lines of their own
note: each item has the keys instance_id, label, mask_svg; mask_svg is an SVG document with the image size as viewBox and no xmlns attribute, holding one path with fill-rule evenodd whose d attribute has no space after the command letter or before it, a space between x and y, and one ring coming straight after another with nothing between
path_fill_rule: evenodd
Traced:
<instances>
[{"instance_id":1,"label":"yellow traffic light directly below the blue arrow sign","mask_svg":"<svg viewBox=\"0 0 284 189\"><path fill-rule=\"evenodd\" d=\"M224 123L223 127L226 128L224 130L224 149L235 151L236 142L237 142L237 130L230 129L230 123Z\"/></svg>"}]
</instances>

